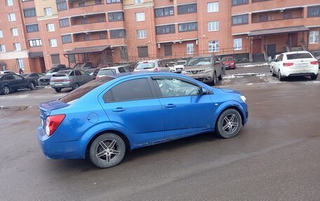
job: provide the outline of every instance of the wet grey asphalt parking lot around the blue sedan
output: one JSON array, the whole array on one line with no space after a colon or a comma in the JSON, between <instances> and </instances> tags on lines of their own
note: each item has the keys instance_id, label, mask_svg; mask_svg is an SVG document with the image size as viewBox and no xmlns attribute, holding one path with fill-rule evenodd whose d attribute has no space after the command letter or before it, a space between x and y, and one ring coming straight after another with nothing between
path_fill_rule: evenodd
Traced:
<instances>
[{"instance_id":1,"label":"wet grey asphalt parking lot around the blue sedan","mask_svg":"<svg viewBox=\"0 0 320 201\"><path fill-rule=\"evenodd\" d=\"M0 95L0 200L320 200L320 78L280 82L258 67L227 71L217 87L247 97L238 136L140 148L111 169L41 152L37 105L67 90Z\"/></svg>"}]
</instances>

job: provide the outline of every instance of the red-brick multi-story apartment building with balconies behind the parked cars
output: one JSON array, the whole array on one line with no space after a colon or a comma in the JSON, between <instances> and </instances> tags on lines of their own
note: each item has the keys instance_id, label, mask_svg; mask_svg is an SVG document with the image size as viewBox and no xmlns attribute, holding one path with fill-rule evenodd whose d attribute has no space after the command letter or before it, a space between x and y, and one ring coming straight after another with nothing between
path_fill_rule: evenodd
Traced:
<instances>
[{"instance_id":1,"label":"red-brick multi-story apartment building with balconies behind the parked cars","mask_svg":"<svg viewBox=\"0 0 320 201\"><path fill-rule=\"evenodd\" d=\"M13 71L320 50L319 0L3 0L0 8L0 62Z\"/></svg>"}]
</instances>

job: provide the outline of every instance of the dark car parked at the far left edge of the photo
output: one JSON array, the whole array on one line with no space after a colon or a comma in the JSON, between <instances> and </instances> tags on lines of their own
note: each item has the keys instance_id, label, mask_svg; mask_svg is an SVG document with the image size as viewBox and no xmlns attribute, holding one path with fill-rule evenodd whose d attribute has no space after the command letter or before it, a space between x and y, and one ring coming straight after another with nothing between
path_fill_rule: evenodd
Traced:
<instances>
[{"instance_id":1,"label":"dark car parked at the far left edge of the photo","mask_svg":"<svg viewBox=\"0 0 320 201\"><path fill-rule=\"evenodd\" d=\"M7 95L21 89L34 90L37 83L33 79L24 78L17 74L0 74L0 92Z\"/></svg>"}]
</instances>

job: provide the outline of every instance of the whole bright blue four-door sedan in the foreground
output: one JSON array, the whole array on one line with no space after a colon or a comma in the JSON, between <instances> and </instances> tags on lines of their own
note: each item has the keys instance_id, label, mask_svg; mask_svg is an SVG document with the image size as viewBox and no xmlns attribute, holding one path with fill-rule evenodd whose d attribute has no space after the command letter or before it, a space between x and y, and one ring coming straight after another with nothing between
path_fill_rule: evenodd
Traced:
<instances>
[{"instance_id":1,"label":"whole bright blue four-door sedan in the foreground","mask_svg":"<svg viewBox=\"0 0 320 201\"><path fill-rule=\"evenodd\" d=\"M246 97L171 73L105 76L39 105L39 144L48 158L118 165L126 152L204 132L236 136Z\"/></svg>"}]
</instances>

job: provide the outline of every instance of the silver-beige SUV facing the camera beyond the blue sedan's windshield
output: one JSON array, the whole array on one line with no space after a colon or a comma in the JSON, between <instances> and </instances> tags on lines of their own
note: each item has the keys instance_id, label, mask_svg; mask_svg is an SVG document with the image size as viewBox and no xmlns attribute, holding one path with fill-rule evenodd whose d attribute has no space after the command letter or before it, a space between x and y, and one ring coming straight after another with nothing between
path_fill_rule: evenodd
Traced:
<instances>
[{"instance_id":1,"label":"silver-beige SUV facing the camera beyond the blue sedan's windshield","mask_svg":"<svg viewBox=\"0 0 320 201\"><path fill-rule=\"evenodd\" d=\"M203 83L215 85L217 78L219 81L222 81L225 67L222 65L219 57L214 55L192 57L185 66L185 69L182 70L182 74Z\"/></svg>"}]
</instances>

